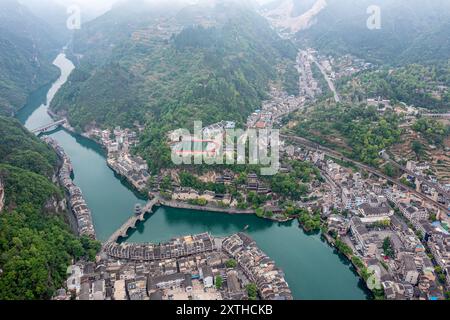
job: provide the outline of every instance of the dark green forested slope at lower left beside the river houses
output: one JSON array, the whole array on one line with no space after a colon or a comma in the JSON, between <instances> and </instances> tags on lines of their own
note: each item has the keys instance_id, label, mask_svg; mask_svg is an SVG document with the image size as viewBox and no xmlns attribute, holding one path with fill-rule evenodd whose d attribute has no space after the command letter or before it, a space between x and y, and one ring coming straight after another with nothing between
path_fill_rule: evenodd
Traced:
<instances>
[{"instance_id":1,"label":"dark green forested slope at lower left beside the river houses","mask_svg":"<svg viewBox=\"0 0 450 320\"><path fill-rule=\"evenodd\" d=\"M56 155L14 119L0 117L0 300L49 299L72 259L95 257L98 244L77 239L55 203Z\"/></svg>"}]
</instances>

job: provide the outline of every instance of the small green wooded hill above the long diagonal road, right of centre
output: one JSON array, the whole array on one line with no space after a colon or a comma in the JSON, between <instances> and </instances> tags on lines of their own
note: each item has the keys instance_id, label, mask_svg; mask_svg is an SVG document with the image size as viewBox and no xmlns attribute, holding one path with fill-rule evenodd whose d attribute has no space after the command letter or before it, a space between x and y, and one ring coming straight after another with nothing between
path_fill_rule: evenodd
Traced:
<instances>
[{"instance_id":1,"label":"small green wooded hill above the long diagonal road, right of centre","mask_svg":"<svg viewBox=\"0 0 450 320\"><path fill-rule=\"evenodd\" d=\"M376 107L320 103L297 115L294 132L351 158L377 166L379 153L399 141L399 116Z\"/></svg>"}]
</instances>

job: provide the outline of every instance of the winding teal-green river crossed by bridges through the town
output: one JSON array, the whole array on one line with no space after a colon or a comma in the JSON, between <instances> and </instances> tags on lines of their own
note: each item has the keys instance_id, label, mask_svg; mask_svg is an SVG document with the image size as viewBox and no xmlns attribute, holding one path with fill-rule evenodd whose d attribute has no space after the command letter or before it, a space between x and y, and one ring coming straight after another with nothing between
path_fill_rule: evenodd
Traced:
<instances>
[{"instance_id":1,"label":"winding teal-green river crossed by bridges through the town","mask_svg":"<svg viewBox=\"0 0 450 320\"><path fill-rule=\"evenodd\" d=\"M73 64L61 54L54 64L61 69L53 85L31 94L17 118L34 129L52 122L48 105L67 81ZM144 203L106 165L102 148L86 138L60 129L49 135L58 141L72 160L74 181L92 211L97 237L106 240L132 214L136 203ZM352 267L319 235L307 235L298 222L275 223L256 216L160 208L130 233L128 241L161 242L175 236L209 231L225 236L250 226L248 233L286 274L295 299L367 299L363 282Z\"/></svg>"}]
</instances>

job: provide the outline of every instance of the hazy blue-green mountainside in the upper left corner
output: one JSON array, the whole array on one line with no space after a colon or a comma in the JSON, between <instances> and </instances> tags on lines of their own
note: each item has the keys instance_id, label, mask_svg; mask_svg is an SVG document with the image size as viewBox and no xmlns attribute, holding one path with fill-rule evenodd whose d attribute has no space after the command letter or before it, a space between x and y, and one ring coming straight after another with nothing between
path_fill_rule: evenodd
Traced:
<instances>
[{"instance_id":1,"label":"hazy blue-green mountainside in the upper left corner","mask_svg":"<svg viewBox=\"0 0 450 320\"><path fill-rule=\"evenodd\" d=\"M61 46L17 0L0 1L0 114L13 114L31 91L58 76L52 60Z\"/></svg>"}]
</instances>

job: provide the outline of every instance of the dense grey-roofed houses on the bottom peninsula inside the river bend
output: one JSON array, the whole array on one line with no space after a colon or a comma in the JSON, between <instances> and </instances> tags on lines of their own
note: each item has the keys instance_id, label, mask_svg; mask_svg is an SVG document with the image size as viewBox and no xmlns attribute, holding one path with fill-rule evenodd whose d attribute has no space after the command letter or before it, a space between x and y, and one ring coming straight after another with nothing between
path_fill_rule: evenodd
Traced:
<instances>
[{"instance_id":1,"label":"dense grey-roofed houses on the bottom peninsula inside the river bend","mask_svg":"<svg viewBox=\"0 0 450 320\"><path fill-rule=\"evenodd\" d=\"M120 248L125 251L114 253ZM139 252L150 248L152 256ZM256 298L249 296L251 284L262 299L292 299L283 272L252 239L204 233L159 245L106 244L97 263L70 268L68 292L55 299L246 300Z\"/></svg>"}]
</instances>

